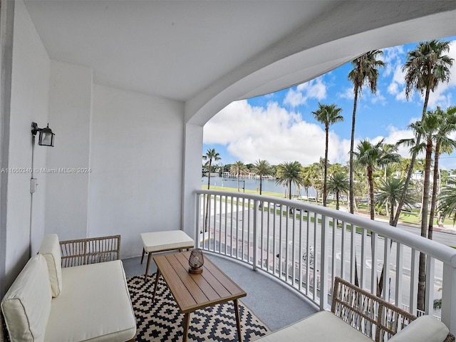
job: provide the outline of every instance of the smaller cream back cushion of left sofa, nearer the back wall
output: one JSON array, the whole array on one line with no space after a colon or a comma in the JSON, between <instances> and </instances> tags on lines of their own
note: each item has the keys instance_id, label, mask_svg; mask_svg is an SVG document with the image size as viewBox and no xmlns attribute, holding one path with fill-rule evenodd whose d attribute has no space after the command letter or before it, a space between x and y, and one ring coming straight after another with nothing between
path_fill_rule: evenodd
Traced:
<instances>
[{"instance_id":1,"label":"smaller cream back cushion of left sofa, nearer the back wall","mask_svg":"<svg viewBox=\"0 0 456 342\"><path fill-rule=\"evenodd\" d=\"M62 255L57 234L48 234L43 238L39 254L46 258L52 296L57 297L62 291Z\"/></svg>"}]
</instances>

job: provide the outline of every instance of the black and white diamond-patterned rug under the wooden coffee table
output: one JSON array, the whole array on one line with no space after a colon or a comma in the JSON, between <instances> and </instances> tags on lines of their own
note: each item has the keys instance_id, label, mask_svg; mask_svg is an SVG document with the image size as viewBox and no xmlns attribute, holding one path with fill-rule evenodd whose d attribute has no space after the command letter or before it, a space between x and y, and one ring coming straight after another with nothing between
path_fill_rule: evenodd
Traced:
<instances>
[{"instance_id":1,"label":"black and white diamond-patterned rug under the wooden coffee table","mask_svg":"<svg viewBox=\"0 0 456 342\"><path fill-rule=\"evenodd\" d=\"M180 314L179 307L162 277L153 303L155 274L150 276L146 284L144 284L144 276L133 276L127 281L137 321L135 341L182 341L184 315ZM239 314L242 341L254 341L270 332L269 328L241 301L239 301ZM238 341L233 302L229 301L192 312L187 341Z\"/></svg>"}]
</instances>

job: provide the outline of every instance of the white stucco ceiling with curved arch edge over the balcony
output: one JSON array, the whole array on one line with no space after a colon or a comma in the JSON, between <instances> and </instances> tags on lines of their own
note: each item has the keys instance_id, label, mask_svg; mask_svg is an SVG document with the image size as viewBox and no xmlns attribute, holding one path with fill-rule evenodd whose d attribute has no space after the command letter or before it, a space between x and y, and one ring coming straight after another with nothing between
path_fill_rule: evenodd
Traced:
<instances>
[{"instance_id":1,"label":"white stucco ceiling with curved arch edge over the balcony","mask_svg":"<svg viewBox=\"0 0 456 342\"><path fill-rule=\"evenodd\" d=\"M456 1L25 4L50 58L93 68L95 83L184 101L190 115L217 97L207 110L307 81L368 48L456 34Z\"/></svg>"}]
</instances>

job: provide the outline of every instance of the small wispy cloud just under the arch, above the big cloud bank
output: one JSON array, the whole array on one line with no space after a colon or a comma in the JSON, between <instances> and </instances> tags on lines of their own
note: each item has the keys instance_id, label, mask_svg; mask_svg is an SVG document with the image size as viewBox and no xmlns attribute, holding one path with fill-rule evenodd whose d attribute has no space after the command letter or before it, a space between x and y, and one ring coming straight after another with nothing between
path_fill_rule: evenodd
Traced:
<instances>
[{"instance_id":1,"label":"small wispy cloud just under the arch, above the big cloud bank","mask_svg":"<svg viewBox=\"0 0 456 342\"><path fill-rule=\"evenodd\" d=\"M306 104L307 100L311 98L316 98L317 100L326 98L326 84L323 83L323 77L302 83L296 89L290 88L284 98L284 104L294 108L298 105Z\"/></svg>"}]
</instances>

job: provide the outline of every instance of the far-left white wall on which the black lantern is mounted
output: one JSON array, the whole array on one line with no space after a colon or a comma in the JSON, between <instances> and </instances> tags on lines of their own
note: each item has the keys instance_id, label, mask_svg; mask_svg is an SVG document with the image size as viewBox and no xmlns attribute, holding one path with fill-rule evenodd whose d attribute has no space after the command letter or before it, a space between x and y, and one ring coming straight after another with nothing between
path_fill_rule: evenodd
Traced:
<instances>
[{"instance_id":1,"label":"far-left white wall on which the black lantern is mounted","mask_svg":"<svg viewBox=\"0 0 456 342\"><path fill-rule=\"evenodd\" d=\"M40 127L48 116L49 58L22 1L16 1L11 80L11 121L9 127L10 173L6 207L6 283L11 283L31 253L38 251L44 234L46 175L38 178L38 192L33 195L32 224L30 178L32 156L32 121ZM38 139L36 141L36 144ZM49 147L35 145L35 167L46 163ZM11 170L12 171L12 170ZM25 171L25 172L24 172ZM29 234L31 231L31 242Z\"/></svg>"}]
</instances>

